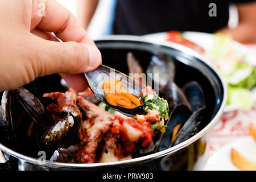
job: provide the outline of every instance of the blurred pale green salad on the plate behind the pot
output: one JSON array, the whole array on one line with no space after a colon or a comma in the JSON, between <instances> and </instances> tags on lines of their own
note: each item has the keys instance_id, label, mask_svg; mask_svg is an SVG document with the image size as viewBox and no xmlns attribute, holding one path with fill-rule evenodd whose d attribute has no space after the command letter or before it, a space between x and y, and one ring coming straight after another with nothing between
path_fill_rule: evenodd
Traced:
<instances>
[{"instance_id":1,"label":"blurred pale green salad on the plate behind the pot","mask_svg":"<svg viewBox=\"0 0 256 182\"><path fill-rule=\"evenodd\" d=\"M250 89L256 86L256 67L249 65L240 45L227 35L214 34L215 47L205 52L228 84L228 105L237 105L241 110L253 107Z\"/></svg>"}]
</instances>

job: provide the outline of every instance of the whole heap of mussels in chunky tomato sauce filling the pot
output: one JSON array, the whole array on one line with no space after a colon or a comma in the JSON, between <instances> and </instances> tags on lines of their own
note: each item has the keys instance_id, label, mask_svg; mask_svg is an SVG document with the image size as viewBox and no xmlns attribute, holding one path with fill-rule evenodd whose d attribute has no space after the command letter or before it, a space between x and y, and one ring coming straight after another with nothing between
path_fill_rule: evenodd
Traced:
<instances>
[{"instance_id":1,"label":"whole heap of mussels in chunky tomato sauce filling the pot","mask_svg":"<svg viewBox=\"0 0 256 182\"><path fill-rule=\"evenodd\" d=\"M207 109L203 89L194 81L180 89L175 84L174 62L163 55L153 59L147 72L164 74L159 83L163 98L150 86L144 87L125 75L113 79L114 92L107 93L112 80L94 79L96 73L110 74L111 69L103 65L96 72L86 73L92 92L104 101L98 106L90 91L75 93L69 89L65 93L45 93L40 98L23 88L6 91L2 120L11 148L34 157L44 150L47 159L55 162L103 163L166 150L193 137L204 127ZM128 92L130 89L133 94Z\"/></svg>"}]
</instances>

